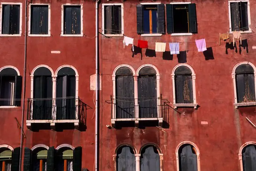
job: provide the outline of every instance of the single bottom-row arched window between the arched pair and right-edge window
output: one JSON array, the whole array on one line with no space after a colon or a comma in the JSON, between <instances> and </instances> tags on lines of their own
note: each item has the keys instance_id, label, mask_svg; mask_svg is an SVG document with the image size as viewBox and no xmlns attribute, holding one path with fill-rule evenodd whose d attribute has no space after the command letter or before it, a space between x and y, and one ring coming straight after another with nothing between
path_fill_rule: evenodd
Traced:
<instances>
[{"instance_id":1,"label":"single bottom-row arched window between the arched pair and right-edge window","mask_svg":"<svg viewBox=\"0 0 256 171\"><path fill-rule=\"evenodd\" d=\"M179 171L197 171L197 151L193 145L181 145L178 157Z\"/></svg>"}]
</instances>

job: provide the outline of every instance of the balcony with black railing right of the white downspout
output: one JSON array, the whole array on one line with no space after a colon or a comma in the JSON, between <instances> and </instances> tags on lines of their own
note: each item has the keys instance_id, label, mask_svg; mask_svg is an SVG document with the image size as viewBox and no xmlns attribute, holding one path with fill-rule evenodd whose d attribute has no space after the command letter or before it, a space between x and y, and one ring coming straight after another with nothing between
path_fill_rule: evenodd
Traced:
<instances>
[{"instance_id":1,"label":"balcony with black railing right of the white downspout","mask_svg":"<svg viewBox=\"0 0 256 171\"><path fill-rule=\"evenodd\" d=\"M111 104L111 124L117 122L158 121L162 127L163 121L169 120L169 101L160 98L112 98L106 101ZM137 105L136 105L137 104Z\"/></svg>"}]
</instances>

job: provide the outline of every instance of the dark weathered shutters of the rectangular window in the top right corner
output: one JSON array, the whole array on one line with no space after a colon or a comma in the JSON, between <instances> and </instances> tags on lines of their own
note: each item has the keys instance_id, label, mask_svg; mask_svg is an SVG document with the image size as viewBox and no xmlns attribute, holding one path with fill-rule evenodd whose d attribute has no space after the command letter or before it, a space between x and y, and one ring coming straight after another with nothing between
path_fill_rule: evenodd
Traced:
<instances>
[{"instance_id":1,"label":"dark weathered shutters of the rectangular window in the top right corner","mask_svg":"<svg viewBox=\"0 0 256 171\"><path fill-rule=\"evenodd\" d=\"M230 31L249 30L248 2L230 2Z\"/></svg>"}]
</instances>

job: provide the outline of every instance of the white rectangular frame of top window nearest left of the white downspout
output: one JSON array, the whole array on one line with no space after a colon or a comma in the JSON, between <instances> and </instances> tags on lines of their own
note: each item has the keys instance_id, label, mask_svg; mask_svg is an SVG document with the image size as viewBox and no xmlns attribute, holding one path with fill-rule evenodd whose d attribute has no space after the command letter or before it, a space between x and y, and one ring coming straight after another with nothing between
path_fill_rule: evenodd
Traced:
<instances>
[{"instance_id":1,"label":"white rectangular frame of top window nearest left of the white downspout","mask_svg":"<svg viewBox=\"0 0 256 171\"><path fill-rule=\"evenodd\" d=\"M80 34L64 34L64 6L81 6L81 33ZM83 4L82 3L64 3L61 4L61 36L63 37L82 37L83 34Z\"/></svg>"}]
</instances>

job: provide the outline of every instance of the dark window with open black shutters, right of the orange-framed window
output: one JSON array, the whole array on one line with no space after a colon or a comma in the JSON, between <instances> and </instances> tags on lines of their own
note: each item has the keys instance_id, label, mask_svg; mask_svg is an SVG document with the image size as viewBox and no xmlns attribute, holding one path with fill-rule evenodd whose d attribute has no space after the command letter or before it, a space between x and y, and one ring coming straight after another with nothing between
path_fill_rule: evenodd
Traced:
<instances>
[{"instance_id":1,"label":"dark window with open black shutters, right of the orange-framed window","mask_svg":"<svg viewBox=\"0 0 256 171\"><path fill-rule=\"evenodd\" d=\"M195 4L166 4L166 21L168 33L197 33Z\"/></svg>"}]
</instances>

